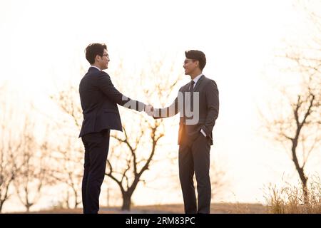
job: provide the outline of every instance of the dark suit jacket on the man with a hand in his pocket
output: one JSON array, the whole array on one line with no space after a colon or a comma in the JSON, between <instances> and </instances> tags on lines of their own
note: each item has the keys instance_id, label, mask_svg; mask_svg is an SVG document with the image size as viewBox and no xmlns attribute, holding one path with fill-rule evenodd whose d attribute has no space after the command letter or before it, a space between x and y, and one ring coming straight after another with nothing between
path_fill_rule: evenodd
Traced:
<instances>
[{"instance_id":1,"label":"dark suit jacket on the man with a hand in his pocket","mask_svg":"<svg viewBox=\"0 0 321 228\"><path fill-rule=\"evenodd\" d=\"M190 83L180 88L180 92L183 93L185 103L185 93L188 92ZM154 118L159 118L161 113L165 113L163 117L170 117L180 113L180 128L178 132L178 144L182 144L186 140L195 140L199 136L200 129L203 129L204 133L210 138L210 144L213 145L213 127L215 120L218 118L219 110L219 99L218 99L218 86L215 81L205 76L200 76L198 82L195 84L194 92L199 92L199 120L195 125L186 125L186 115L184 110L181 110L181 106L178 104L178 97L175 98L174 102L167 108L155 109L158 113ZM180 106L180 107L178 107ZM175 113L170 113L170 109L175 107ZM172 114L172 115L170 115ZM186 136L186 137L185 137ZM185 138L184 138L185 137Z\"/></svg>"}]
</instances>

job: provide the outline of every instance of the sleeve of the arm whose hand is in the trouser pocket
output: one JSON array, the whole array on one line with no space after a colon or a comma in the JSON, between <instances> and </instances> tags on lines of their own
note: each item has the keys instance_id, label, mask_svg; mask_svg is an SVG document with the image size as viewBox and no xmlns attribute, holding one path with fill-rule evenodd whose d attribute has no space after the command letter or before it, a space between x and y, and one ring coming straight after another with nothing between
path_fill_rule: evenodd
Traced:
<instances>
[{"instance_id":1,"label":"sleeve of the arm whose hand is in the trouser pocket","mask_svg":"<svg viewBox=\"0 0 321 228\"><path fill-rule=\"evenodd\" d=\"M202 126L206 135L210 135L212 132L215 120L218 118L219 110L219 98L218 98L218 86L215 81L211 80L208 86L206 86L206 102L208 115L206 115L205 124Z\"/></svg>"}]
</instances>

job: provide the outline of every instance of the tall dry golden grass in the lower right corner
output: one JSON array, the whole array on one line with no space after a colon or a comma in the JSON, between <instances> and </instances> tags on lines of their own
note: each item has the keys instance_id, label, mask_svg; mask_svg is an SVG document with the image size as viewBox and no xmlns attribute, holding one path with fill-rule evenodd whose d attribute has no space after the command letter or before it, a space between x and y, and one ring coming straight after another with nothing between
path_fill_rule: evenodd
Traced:
<instances>
[{"instance_id":1,"label":"tall dry golden grass in the lower right corner","mask_svg":"<svg viewBox=\"0 0 321 228\"><path fill-rule=\"evenodd\" d=\"M303 201L301 185L293 186L286 183L285 187L269 186L267 212L271 214L320 214L321 213L321 182L319 177L310 180L308 201Z\"/></svg>"}]
</instances>

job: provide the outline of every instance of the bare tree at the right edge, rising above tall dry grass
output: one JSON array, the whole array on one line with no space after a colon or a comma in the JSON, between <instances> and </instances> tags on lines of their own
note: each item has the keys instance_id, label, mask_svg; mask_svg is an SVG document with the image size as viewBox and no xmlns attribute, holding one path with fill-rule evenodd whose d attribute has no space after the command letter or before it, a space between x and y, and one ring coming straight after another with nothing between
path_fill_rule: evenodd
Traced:
<instances>
[{"instance_id":1,"label":"bare tree at the right edge, rising above tall dry grass","mask_svg":"<svg viewBox=\"0 0 321 228\"><path fill-rule=\"evenodd\" d=\"M305 166L311 153L320 148L321 140L321 17L315 12L308 16L317 29L317 39L312 37L305 47L288 45L281 55L289 61L292 76L300 74L300 86L281 89L281 103L275 103L272 110L279 113L269 117L261 114L269 135L290 152L302 182L304 202L308 200Z\"/></svg>"}]
</instances>

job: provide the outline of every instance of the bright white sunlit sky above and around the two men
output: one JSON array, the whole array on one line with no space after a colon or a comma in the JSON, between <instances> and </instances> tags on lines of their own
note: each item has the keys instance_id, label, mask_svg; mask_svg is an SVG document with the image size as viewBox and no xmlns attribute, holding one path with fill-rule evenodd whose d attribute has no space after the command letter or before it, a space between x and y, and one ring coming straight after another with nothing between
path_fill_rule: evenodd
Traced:
<instances>
[{"instance_id":1,"label":"bright white sunlit sky above and around the two men","mask_svg":"<svg viewBox=\"0 0 321 228\"><path fill-rule=\"evenodd\" d=\"M69 81L78 85L81 66L88 67L83 53L88 43L107 43L108 73L116 71L121 59L131 72L144 68L148 59L165 56L183 74L184 51L204 51L203 73L220 90L211 156L230 180L222 200L264 202L263 185L280 182L283 175L296 177L282 148L260 135L257 112L260 103L274 98L278 76L270 73L277 72L275 49L297 31L302 31L300 38L306 34L295 2L1 0L0 83L7 81L19 98L49 111L49 94Z\"/></svg>"}]
</instances>

